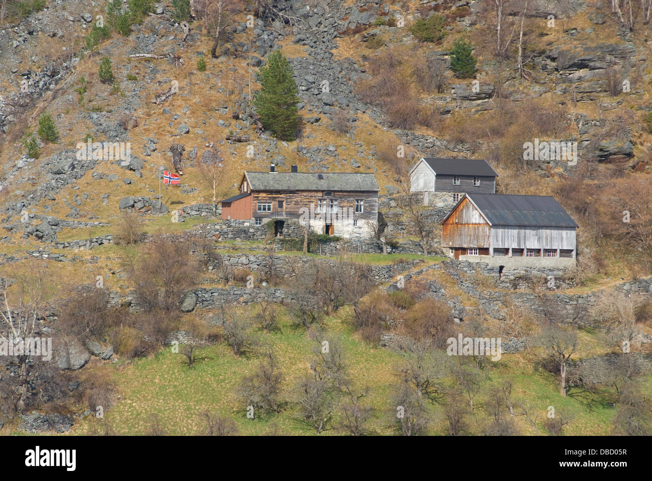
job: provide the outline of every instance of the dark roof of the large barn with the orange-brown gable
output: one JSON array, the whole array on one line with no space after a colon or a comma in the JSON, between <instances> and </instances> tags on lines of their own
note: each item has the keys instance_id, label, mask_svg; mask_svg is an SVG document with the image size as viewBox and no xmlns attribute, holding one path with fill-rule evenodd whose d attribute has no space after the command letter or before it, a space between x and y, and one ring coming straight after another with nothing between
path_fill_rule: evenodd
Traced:
<instances>
[{"instance_id":1,"label":"dark roof of the large barn with the orange-brown gable","mask_svg":"<svg viewBox=\"0 0 652 481\"><path fill-rule=\"evenodd\" d=\"M492 226L578 227L554 197L467 194Z\"/></svg>"}]
</instances>

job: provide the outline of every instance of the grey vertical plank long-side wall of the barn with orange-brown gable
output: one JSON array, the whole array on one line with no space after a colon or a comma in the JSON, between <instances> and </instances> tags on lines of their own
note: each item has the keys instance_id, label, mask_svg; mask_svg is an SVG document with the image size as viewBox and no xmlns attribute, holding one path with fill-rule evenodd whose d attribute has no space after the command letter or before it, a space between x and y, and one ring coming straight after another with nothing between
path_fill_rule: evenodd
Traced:
<instances>
[{"instance_id":1,"label":"grey vertical plank long-side wall of the barn with orange-brown gable","mask_svg":"<svg viewBox=\"0 0 652 481\"><path fill-rule=\"evenodd\" d=\"M492 248L574 249L573 227L505 227L491 229Z\"/></svg>"}]
</instances>

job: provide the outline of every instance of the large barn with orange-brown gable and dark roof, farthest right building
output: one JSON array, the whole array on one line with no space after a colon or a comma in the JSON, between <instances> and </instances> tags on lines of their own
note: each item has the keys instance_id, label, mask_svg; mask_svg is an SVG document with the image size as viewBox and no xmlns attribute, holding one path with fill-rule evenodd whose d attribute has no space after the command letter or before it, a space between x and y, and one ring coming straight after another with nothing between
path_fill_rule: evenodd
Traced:
<instances>
[{"instance_id":1,"label":"large barn with orange-brown gable and dark roof, farthest right building","mask_svg":"<svg viewBox=\"0 0 652 481\"><path fill-rule=\"evenodd\" d=\"M441 247L497 267L573 267L577 227L554 197L466 194L441 223Z\"/></svg>"}]
</instances>

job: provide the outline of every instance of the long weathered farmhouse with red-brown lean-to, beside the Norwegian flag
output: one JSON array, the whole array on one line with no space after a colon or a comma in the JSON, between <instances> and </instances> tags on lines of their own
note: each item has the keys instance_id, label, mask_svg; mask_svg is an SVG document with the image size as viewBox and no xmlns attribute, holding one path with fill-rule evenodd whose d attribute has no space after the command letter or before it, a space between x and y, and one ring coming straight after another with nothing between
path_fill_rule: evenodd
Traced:
<instances>
[{"instance_id":1,"label":"long weathered farmhouse with red-brown lean-to, beside the Norwegian flag","mask_svg":"<svg viewBox=\"0 0 652 481\"><path fill-rule=\"evenodd\" d=\"M347 239L373 237L378 228L378 182L372 173L244 171L239 194L222 201L223 219L274 222L282 235L287 220L320 234Z\"/></svg>"}]
</instances>

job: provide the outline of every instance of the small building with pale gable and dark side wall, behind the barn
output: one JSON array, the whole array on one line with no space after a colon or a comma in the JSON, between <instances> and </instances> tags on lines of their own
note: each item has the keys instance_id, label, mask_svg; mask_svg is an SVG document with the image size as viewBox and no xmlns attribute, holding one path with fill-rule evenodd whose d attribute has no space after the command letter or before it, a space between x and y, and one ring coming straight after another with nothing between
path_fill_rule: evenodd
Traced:
<instances>
[{"instance_id":1,"label":"small building with pale gable and dark side wall, behind the barn","mask_svg":"<svg viewBox=\"0 0 652 481\"><path fill-rule=\"evenodd\" d=\"M452 205L464 194L495 194L498 174L486 160L421 158L411 169L410 192L423 192L424 205Z\"/></svg>"}]
</instances>

